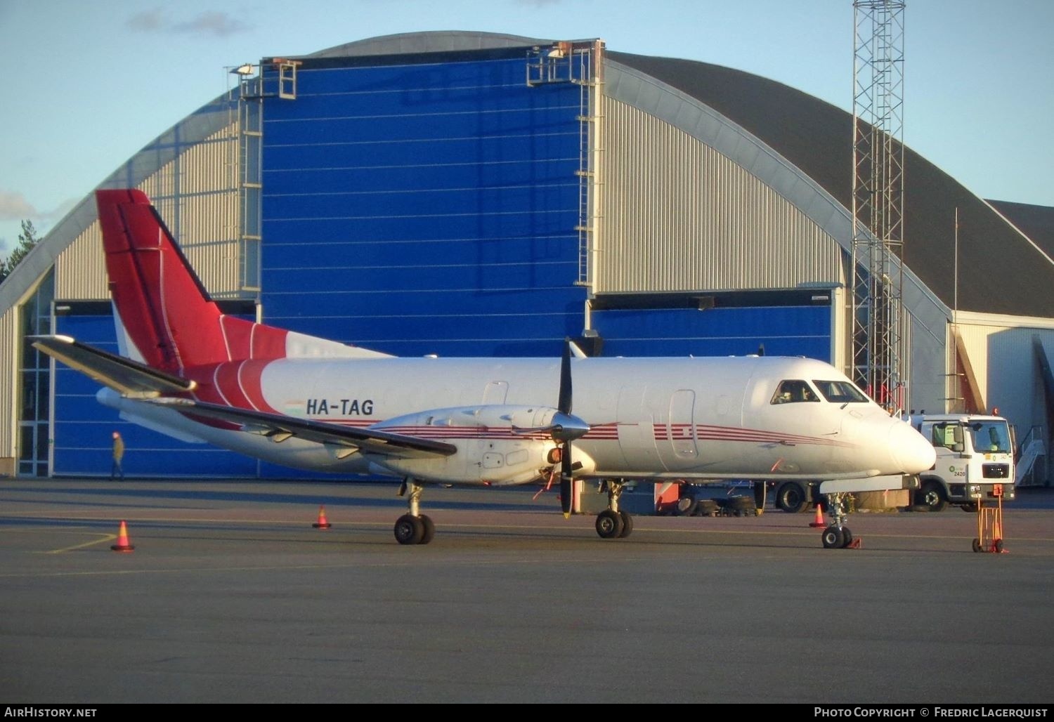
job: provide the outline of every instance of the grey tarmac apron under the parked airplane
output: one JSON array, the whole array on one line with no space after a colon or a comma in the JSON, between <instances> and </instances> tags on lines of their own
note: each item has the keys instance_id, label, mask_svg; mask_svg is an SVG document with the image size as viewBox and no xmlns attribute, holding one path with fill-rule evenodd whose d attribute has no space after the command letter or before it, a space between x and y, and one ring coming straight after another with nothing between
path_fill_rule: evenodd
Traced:
<instances>
[{"instance_id":1,"label":"grey tarmac apron under the parked airplane","mask_svg":"<svg viewBox=\"0 0 1054 722\"><path fill-rule=\"evenodd\" d=\"M1054 700L1052 490L1006 553L956 508L853 514L859 549L770 508L605 541L535 492L428 488L401 546L389 484L0 480L0 701Z\"/></svg>"}]
</instances>

